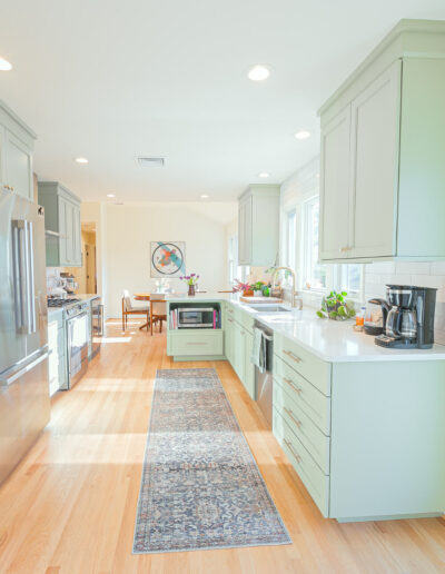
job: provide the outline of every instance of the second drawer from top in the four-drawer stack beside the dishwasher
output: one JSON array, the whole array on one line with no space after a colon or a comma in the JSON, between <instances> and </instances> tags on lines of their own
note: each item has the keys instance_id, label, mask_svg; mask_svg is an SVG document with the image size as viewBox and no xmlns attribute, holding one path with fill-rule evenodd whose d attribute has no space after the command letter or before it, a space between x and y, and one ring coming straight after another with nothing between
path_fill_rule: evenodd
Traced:
<instances>
[{"instance_id":1,"label":"second drawer from top in the four-drawer stack beside the dishwasher","mask_svg":"<svg viewBox=\"0 0 445 574\"><path fill-rule=\"evenodd\" d=\"M283 388L287 389L295 404L318 428L325 435L330 435L330 398L320 393L277 355L274 355L274 378Z\"/></svg>"}]
</instances>

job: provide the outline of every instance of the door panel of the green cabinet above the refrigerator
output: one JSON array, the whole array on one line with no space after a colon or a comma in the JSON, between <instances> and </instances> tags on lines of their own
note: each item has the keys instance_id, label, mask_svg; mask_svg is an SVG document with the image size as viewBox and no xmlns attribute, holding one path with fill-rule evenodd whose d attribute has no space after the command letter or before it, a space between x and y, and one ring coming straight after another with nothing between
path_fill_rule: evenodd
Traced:
<instances>
[{"instance_id":1,"label":"door panel of the green cabinet above the refrigerator","mask_svg":"<svg viewBox=\"0 0 445 574\"><path fill-rule=\"evenodd\" d=\"M33 199L32 154L13 133L6 130L6 179L7 184L27 199Z\"/></svg>"}]
</instances>

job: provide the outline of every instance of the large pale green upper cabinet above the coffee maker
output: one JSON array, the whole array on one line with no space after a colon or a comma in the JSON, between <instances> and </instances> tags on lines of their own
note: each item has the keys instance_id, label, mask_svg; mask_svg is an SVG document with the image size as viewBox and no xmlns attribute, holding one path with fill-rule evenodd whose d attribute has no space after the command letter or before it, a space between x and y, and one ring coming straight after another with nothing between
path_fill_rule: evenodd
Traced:
<instances>
[{"instance_id":1,"label":"large pale green upper cabinet above the coffee maker","mask_svg":"<svg viewBox=\"0 0 445 574\"><path fill-rule=\"evenodd\" d=\"M323 106L320 260L445 257L444 100L445 22L402 20Z\"/></svg>"}]
</instances>

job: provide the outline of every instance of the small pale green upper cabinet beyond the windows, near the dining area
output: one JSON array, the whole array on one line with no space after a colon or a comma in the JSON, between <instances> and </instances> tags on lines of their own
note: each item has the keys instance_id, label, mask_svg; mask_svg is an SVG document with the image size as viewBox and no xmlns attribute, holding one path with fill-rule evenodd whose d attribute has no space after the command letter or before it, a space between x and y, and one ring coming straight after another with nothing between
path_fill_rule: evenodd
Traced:
<instances>
[{"instance_id":1,"label":"small pale green upper cabinet beyond the windows, near the dining area","mask_svg":"<svg viewBox=\"0 0 445 574\"><path fill-rule=\"evenodd\" d=\"M250 186L238 204L239 265L274 265L279 247L279 186Z\"/></svg>"}]
</instances>

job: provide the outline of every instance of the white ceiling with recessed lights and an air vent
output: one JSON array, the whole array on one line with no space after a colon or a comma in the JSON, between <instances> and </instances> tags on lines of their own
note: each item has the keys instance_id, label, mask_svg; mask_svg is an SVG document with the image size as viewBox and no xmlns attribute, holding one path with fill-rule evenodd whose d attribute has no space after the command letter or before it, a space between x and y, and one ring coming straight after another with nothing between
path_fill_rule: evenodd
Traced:
<instances>
[{"instance_id":1,"label":"white ceiling with recessed lights and an air vent","mask_svg":"<svg viewBox=\"0 0 445 574\"><path fill-rule=\"evenodd\" d=\"M226 201L317 154L317 108L400 18L445 2L1 0L0 98L39 136L39 177L83 199ZM258 62L265 82L246 78Z\"/></svg>"}]
</instances>

